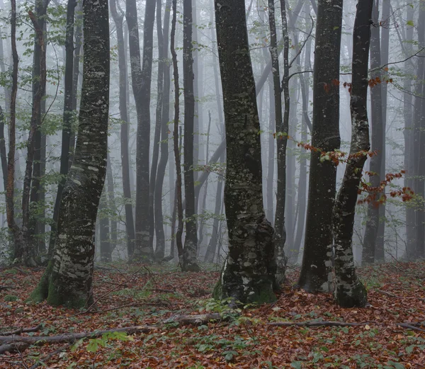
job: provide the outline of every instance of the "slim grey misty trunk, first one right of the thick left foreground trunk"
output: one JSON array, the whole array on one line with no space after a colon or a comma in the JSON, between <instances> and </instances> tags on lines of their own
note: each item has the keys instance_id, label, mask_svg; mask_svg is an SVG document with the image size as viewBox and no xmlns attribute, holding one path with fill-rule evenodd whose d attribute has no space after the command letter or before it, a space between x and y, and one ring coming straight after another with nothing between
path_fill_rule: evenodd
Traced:
<instances>
[{"instance_id":1,"label":"slim grey misty trunk, first one right of the thick left foreground trunk","mask_svg":"<svg viewBox=\"0 0 425 369\"><path fill-rule=\"evenodd\" d=\"M124 14L119 13L116 7L116 1L111 0L111 14L117 28L118 42L118 68L120 69L120 143L121 143L121 165L123 173L123 195L125 198L125 230L127 232L127 253L128 258L132 256L135 248L135 223L132 214L132 199L130 186L130 152L128 149L128 131L130 121L128 119L127 109L127 91L126 84L128 79L127 62L125 59L125 40L123 35Z\"/></svg>"}]
</instances>

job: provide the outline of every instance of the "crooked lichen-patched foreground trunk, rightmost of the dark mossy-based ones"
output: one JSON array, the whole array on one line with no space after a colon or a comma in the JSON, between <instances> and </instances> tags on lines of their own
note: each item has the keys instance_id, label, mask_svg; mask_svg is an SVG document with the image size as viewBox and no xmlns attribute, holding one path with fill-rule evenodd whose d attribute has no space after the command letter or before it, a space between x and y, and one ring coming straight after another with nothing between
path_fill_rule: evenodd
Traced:
<instances>
[{"instance_id":1,"label":"crooked lichen-patched foreground trunk, rightmost of the dark mossy-based ones","mask_svg":"<svg viewBox=\"0 0 425 369\"><path fill-rule=\"evenodd\" d=\"M351 148L332 218L335 250L335 299L341 307L364 307L367 293L356 276L353 258L353 227L358 186L370 149L368 124L368 57L370 17L373 3L357 4L353 30L353 79L351 84Z\"/></svg>"}]
</instances>

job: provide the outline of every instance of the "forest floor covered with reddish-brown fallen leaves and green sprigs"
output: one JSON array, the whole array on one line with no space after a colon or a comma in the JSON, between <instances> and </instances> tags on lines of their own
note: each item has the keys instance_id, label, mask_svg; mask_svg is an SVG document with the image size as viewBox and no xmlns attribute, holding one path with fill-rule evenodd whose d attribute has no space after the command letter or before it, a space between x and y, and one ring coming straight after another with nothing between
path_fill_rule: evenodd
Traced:
<instances>
[{"instance_id":1,"label":"forest floor covered with reddish-brown fallen leaves and green sprigs","mask_svg":"<svg viewBox=\"0 0 425 369\"><path fill-rule=\"evenodd\" d=\"M211 299L219 272L203 268L201 273L159 266L96 268L96 305L85 310L35 304L28 298L42 270L3 269L0 339L7 331L31 327L35 331L16 336L146 328L74 343L39 341L21 352L0 355L0 368L425 368L425 323L420 324L425 322L424 262L361 269L370 303L362 309L342 309L331 295L293 288L297 271L291 269L275 303L246 307L239 315ZM166 322L176 315L205 312L221 313L225 319ZM323 321L360 325L328 327ZM271 325L276 322L322 325ZM417 324L398 325L405 322Z\"/></svg>"}]
</instances>

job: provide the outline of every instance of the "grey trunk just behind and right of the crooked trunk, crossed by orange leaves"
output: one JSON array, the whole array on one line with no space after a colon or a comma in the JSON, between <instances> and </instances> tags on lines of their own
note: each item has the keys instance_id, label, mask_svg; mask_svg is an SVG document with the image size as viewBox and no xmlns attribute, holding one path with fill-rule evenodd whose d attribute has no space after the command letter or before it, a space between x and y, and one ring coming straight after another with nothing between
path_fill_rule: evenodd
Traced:
<instances>
[{"instance_id":1,"label":"grey trunk just behind and right of the crooked trunk, crossed by orange leaves","mask_svg":"<svg viewBox=\"0 0 425 369\"><path fill-rule=\"evenodd\" d=\"M380 72L380 27L378 26L378 9L379 0L373 0L373 13L370 31L370 69L374 72L370 74L371 79L379 79L382 81ZM380 83L370 87L370 104L372 125L372 151L377 152L376 155L370 158L369 171L373 174L370 176L372 187L380 186L381 167L382 167L382 148L384 142L383 127L382 127L382 86ZM368 220L365 227L365 237L363 242L363 263L373 263L376 260L376 237L378 236L378 226L380 222L380 209L377 206L379 198L371 201L368 204ZM382 252L382 251L380 251Z\"/></svg>"}]
</instances>

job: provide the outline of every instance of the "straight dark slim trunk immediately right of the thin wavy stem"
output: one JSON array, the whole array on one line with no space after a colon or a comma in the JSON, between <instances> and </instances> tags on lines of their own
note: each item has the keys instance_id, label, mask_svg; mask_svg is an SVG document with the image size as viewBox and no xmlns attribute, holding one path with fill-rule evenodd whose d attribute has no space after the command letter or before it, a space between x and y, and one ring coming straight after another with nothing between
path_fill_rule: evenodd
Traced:
<instances>
[{"instance_id":1,"label":"straight dark slim trunk immediately right of the thin wavy stem","mask_svg":"<svg viewBox=\"0 0 425 369\"><path fill-rule=\"evenodd\" d=\"M186 199L186 238L181 263L182 271L200 271L196 262L198 233L196 230L195 181L193 175L195 96L193 94L192 23L192 0L183 0L183 168L184 197Z\"/></svg>"}]
</instances>

